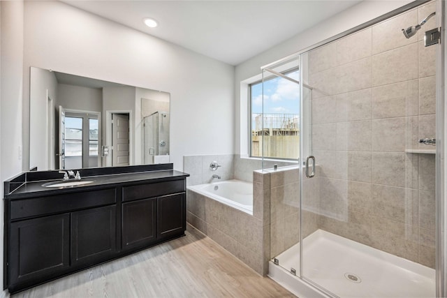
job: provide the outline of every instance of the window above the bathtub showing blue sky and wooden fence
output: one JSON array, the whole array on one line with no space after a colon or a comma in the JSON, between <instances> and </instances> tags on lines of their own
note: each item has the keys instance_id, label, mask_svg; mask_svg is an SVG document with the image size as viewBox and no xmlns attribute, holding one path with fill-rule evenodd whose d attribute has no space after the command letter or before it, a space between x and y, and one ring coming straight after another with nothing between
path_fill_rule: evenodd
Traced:
<instances>
[{"instance_id":1,"label":"window above the bathtub showing blue sky and wooden fence","mask_svg":"<svg viewBox=\"0 0 447 298\"><path fill-rule=\"evenodd\" d=\"M284 75L299 80L299 70ZM264 90L263 90L264 88ZM300 89L282 77L249 84L250 156L298 159Z\"/></svg>"}]
</instances>

